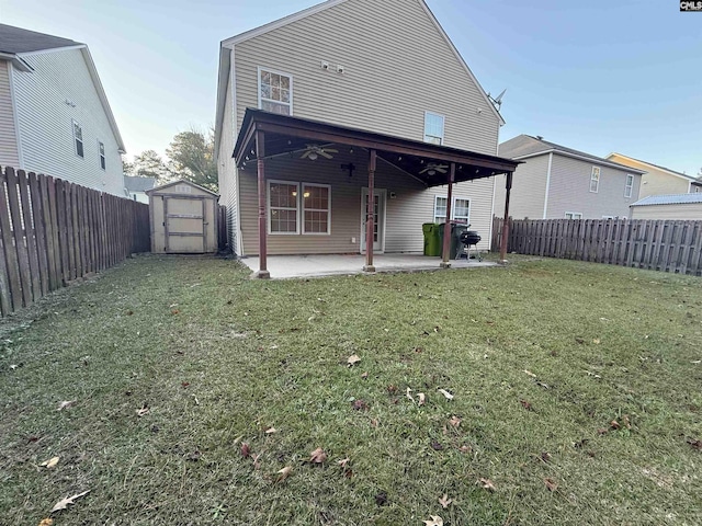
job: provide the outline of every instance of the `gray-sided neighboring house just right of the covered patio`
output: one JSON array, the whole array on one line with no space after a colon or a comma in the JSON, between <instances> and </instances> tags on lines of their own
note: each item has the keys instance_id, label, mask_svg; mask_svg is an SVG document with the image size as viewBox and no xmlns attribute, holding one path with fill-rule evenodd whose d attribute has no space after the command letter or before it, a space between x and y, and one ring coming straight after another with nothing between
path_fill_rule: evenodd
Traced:
<instances>
[{"instance_id":1,"label":"gray-sided neighboring house just right of the covered patio","mask_svg":"<svg viewBox=\"0 0 702 526\"><path fill-rule=\"evenodd\" d=\"M510 216L521 219L629 217L638 199L643 170L566 148L542 137L519 135L499 155L522 161L514 172ZM503 214L505 191L497 185L495 213Z\"/></svg>"}]
</instances>

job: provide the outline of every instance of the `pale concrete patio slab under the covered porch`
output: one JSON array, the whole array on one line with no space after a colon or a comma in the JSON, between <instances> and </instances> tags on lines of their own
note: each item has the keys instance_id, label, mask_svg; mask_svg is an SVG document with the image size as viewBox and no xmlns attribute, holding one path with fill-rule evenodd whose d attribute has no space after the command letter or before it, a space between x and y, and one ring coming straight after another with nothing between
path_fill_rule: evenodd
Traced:
<instances>
[{"instance_id":1,"label":"pale concrete patio slab under the covered porch","mask_svg":"<svg viewBox=\"0 0 702 526\"><path fill-rule=\"evenodd\" d=\"M422 254L376 254L373 259L376 273L416 272L441 270L440 258ZM252 272L259 270L258 258L242 258ZM293 277L322 277L333 275L363 274L365 256L355 255L269 255L268 270L272 279L290 279ZM452 268L475 268L498 266L492 261L451 260Z\"/></svg>"}]
</instances>

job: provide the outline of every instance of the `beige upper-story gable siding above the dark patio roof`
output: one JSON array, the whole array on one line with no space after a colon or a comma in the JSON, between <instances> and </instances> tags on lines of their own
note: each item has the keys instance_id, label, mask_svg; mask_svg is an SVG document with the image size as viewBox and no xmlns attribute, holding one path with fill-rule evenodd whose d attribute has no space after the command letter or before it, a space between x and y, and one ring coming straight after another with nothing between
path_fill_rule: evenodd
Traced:
<instances>
[{"instance_id":1,"label":"beige upper-story gable siding above the dark patio roof","mask_svg":"<svg viewBox=\"0 0 702 526\"><path fill-rule=\"evenodd\" d=\"M296 116L422 140L430 111L445 116L445 146L497 150L497 116L418 0L349 0L237 44L235 54L237 129L246 108L258 107L263 67L293 77Z\"/></svg>"}]
</instances>

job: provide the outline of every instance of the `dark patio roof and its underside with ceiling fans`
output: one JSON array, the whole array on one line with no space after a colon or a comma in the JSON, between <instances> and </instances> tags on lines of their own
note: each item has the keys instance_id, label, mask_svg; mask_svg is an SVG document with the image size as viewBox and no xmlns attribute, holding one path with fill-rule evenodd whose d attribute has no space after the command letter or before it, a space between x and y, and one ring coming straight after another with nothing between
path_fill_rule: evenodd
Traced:
<instances>
[{"instance_id":1,"label":"dark patio roof and its underside with ceiling fans","mask_svg":"<svg viewBox=\"0 0 702 526\"><path fill-rule=\"evenodd\" d=\"M456 167L456 183L512 173L520 164L519 161L500 157L248 108L234 150L237 167L244 167L247 161L256 162L257 132L263 132L264 159L299 157L308 145L375 150L385 162L420 180L428 187L448 183L446 173L451 163ZM446 168L427 170L432 163Z\"/></svg>"}]
</instances>

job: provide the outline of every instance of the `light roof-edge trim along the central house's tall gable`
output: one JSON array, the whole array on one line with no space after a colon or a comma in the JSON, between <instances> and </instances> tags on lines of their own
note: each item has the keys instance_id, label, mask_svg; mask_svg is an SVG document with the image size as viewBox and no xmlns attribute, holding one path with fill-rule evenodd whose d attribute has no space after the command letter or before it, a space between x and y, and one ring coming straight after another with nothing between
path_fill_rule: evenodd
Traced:
<instances>
[{"instance_id":1,"label":"light roof-edge trim along the central house's tall gable","mask_svg":"<svg viewBox=\"0 0 702 526\"><path fill-rule=\"evenodd\" d=\"M220 136L219 134L222 133L222 125L224 121L224 106L226 102L227 81L229 79L229 73L231 70L230 50L234 49L234 47L239 43L246 42L250 38L254 38L260 35L264 35L271 31L278 30L280 27L284 27L288 24L297 22L298 20L306 19L307 16L312 16L313 14L319 13L321 11L326 11L327 9L333 8L335 5L339 5L340 3L343 3L347 1L352 1L352 0L327 0L326 2L319 3L317 5L313 5L310 8L304 9L302 11L290 14L287 16L283 16L282 19L275 20L268 24L261 25L253 30L249 30L247 32L240 33L230 38L226 38L222 41L220 48L219 48L219 75L218 75L218 81L217 81L217 110L215 115L215 139L217 139ZM446 44L455 55L461 66L465 69L466 73L476 85L483 99L485 99L485 103L487 104L487 107L489 107L495 113L495 116L497 117L499 123L503 125L505 119L502 118L502 115L495 107L492 102L489 100L486 91L483 89L483 85L478 82L475 75L473 75L473 71L468 67L467 62L464 60L464 58L461 56L456 47L453 45L453 42L451 42L451 38L449 38L449 35L439 23L439 20L437 19L437 16L434 16L429 5L427 5L427 2L424 0L415 0L415 1L419 2L419 4L427 12L427 15L435 25L437 31L439 31L439 34L446 42ZM378 3L382 3L382 2L378 2ZM215 140L215 156L218 155L218 150L219 150L219 140Z\"/></svg>"}]
</instances>

